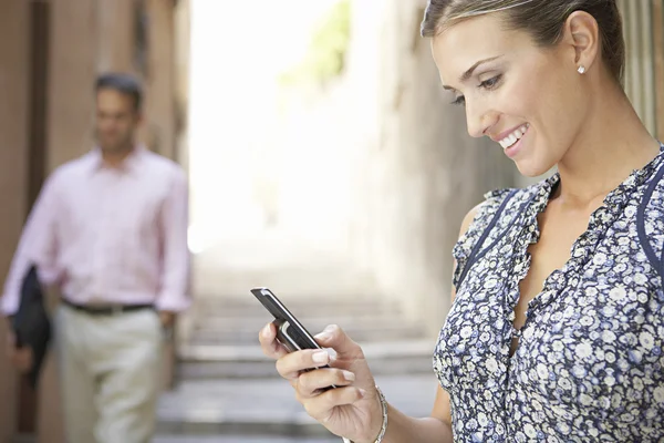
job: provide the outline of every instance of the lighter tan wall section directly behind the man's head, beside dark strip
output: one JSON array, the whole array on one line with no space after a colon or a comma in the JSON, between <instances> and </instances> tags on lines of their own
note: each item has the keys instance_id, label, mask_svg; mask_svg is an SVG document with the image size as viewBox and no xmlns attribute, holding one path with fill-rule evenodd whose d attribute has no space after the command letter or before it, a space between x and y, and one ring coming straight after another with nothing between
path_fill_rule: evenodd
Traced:
<instances>
[{"instance_id":1,"label":"lighter tan wall section directly behind the man's head, beside dark strip","mask_svg":"<svg viewBox=\"0 0 664 443\"><path fill-rule=\"evenodd\" d=\"M93 84L106 71L143 79L145 119L139 138L154 151L176 157L173 4L160 0L52 4L49 133L56 148L49 155L49 171L93 145Z\"/></svg>"}]
</instances>

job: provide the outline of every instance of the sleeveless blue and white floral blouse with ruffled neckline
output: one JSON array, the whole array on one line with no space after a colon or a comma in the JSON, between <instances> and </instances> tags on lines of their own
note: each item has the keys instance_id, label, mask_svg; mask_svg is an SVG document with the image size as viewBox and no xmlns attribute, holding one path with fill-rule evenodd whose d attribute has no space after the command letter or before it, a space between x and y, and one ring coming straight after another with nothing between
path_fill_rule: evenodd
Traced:
<instances>
[{"instance_id":1,"label":"sleeveless blue and white floral blouse with ruffled neckline","mask_svg":"<svg viewBox=\"0 0 664 443\"><path fill-rule=\"evenodd\" d=\"M457 295L434 354L455 441L664 442L664 265L649 260L664 246L663 175L661 153L606 196L519 331L513 310L528 247L560 178L487 195L454 248ZM644 195L647 246L636 223Z\"/></svg>"}]
</instances>

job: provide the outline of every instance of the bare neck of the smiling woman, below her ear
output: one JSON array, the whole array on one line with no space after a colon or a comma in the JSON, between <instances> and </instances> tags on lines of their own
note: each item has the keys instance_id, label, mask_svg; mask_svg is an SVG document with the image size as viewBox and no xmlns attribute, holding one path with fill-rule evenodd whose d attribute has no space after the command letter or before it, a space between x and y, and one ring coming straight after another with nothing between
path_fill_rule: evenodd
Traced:
<instances>
[{"instance_id":1,"label":"bare neck of the smiling woman, below her ear","mask_svg":"<svg viewBox=\"0 0 664 443\"><path fill-rule=\"evenodd\" d=\"M660 152L626 95L615 86L589 109L582 131L558 164L559 196L574 206L604 198Z\"/></svg>"}]
</instances>

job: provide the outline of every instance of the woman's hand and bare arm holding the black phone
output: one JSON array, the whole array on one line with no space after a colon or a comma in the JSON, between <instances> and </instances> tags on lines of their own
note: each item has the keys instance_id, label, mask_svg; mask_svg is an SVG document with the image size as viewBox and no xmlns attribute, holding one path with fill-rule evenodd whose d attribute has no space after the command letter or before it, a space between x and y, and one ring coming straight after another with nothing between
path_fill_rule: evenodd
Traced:
<instances>
[{"instance_id":1,"label":"woman's hand and bare arm holding the black phone","mask_svg":"<svg viewBox=\"0 0 664 443\"><path fill-rule=\"evenodd\" d=\"M476 210L466 215L461 235ZM453 289L453 300L455 295ZM314 349L289 353L277 341L273 323L259 334L263 353L277 359L277 371L290 380L309 415L336 435L355 443L374 443L382 429L383 408L362 348L336 326L325 328L315 339L323 348L336 351L334 361L326 351ZM325 389L331 385L336 388ZM453 443L449 395L443 389L438 388L432 415L426 419L413 419L387 406L383 443L403 442Z\"/></svg>"}]
</instances>

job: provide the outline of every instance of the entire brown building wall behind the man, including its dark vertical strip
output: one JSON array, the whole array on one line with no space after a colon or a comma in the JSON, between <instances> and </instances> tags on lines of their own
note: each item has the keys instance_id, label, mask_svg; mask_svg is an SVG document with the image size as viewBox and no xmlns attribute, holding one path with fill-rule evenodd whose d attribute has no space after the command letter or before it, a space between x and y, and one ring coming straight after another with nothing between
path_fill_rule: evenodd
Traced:
<instances>
[{"instance_id":1,"label":"entire brown building wall behind the man, including its dark vertical strip","mask_svg":"<svg viewBox=\"0 0 664 443\"><path fill-rule=\"evenodd\" d=\"M135 24L139 10L152 19L145 29L145 70L137 63ZM31 200L45 175L93 145L93 84L97 73L114 70L144 76L147 128L157 130L152 134L146 131L144 140L157 141L152 146L155 151L176 156L173 10L173 2L157 0L0 1L0 184L4 189L0 197L3 214L0 269L3 275L9 269ZM37 16L31 16L35 11L37 21L33 20ZM43 44L34 40L37 29L41 29ZM40 44L39 50L33 44ZM158 137L151 136L155 134ZM2 348L6 328L6 322L0 322ZM168 360L173 354L169 353ZM172 367L166 363L166 378L172 380ZM0 402L0 442L9 441L17 431L19 404L25 405L21 414L23 427L31 429L31 423L37 423L38 442L63 440L55 375L50 359L40 381L39 412L32 416L34 399L29 392L19 392L15 371L4 351L0 352L0 394L6 400Z\"/></svg>"}]
</instances>

